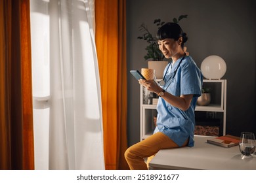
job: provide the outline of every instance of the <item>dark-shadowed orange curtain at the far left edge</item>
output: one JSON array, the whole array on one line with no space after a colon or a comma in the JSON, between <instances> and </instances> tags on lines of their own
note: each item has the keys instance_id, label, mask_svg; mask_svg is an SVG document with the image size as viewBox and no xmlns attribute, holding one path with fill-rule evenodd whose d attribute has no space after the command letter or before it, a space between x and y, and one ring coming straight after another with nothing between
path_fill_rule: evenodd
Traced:
<instances>
[{"instance_id":1,"label":"dark-shadowed orange curtain at the far left edge","mask_svg":"<svg viewBox=\"0 0 256 183\"><path fill-rule=\"evenodd\" d=\"M0 169L34 169L30 1L0 1Z\"/></svg>"}]
</instances>

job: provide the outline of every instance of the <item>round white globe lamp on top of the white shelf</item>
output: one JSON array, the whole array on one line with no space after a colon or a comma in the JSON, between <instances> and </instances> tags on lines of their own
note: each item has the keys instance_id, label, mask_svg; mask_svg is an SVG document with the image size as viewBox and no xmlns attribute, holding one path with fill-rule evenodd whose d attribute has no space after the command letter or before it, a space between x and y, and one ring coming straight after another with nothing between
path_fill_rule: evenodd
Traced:
<instances>
[{"instance_id":1,"label":"round white globe lamp on top of the white shelf","mask_svg":"<svg viewBox=\"0 0 256 183\"><path fill-rule=\"evenodd\" d=\"M226 63L219 56L208 56L201 63L201 71L207 79L221 79L226 73Z\"/></svg>"}]
</instances>

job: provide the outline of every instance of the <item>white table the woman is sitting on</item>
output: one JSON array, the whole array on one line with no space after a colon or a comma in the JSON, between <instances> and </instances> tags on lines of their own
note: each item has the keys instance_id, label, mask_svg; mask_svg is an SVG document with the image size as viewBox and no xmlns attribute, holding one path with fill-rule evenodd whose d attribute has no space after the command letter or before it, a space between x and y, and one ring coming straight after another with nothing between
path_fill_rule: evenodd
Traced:
<instances>
[{"instance_id":1,"label":"white table the woman is sitting on","mask_svg":"<svg viewBox=\"0 0 256 183\"><path fill-rule=\"evenodd\" d=\"M195 136L194 147L160 150L150 162L150 169L256 170L256 156L242 159L238 146L224 148Z\"/></svg>"}]
</instances>

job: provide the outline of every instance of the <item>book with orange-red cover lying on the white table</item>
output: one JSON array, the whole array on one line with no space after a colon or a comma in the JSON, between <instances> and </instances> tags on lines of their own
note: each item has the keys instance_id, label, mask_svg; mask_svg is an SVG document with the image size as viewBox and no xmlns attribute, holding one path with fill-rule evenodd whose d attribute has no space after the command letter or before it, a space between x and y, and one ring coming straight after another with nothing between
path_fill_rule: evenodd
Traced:
<instances>
[{"instance_id":1,"label":"book with orange-red cover lying on the white table","mask_svg":"<svg viewBox=\"0 0 256 183\"><path fill-rule=\"evenodd\" d=\"M223 146L225 148L230 148L232 146L237 146L239 144L240 137L236 137L233 135L224 135L221 137L215 137L211 139L207 139L209 144L215 144L218 146Z\"/></svg>"}]
</instances>

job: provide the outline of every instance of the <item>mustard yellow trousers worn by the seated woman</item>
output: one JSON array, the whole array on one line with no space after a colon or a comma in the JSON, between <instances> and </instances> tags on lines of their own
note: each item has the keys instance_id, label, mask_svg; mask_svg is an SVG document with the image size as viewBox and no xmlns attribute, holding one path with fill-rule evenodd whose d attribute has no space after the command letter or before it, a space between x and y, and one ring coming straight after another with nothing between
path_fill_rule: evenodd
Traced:
<instances>
[{"instance_id":1,"label":"mustard yellow trousers worn by the seated woman","mask_svg":"<svg viewBox=\"0 0 256 183\"><path fill-rule=\"evenodd\" d=\"M188 140L182 146L186 146ZM179 147L167 135L158 132L147 139L134 144L125 151L125 159L131 170L146 170L148 163L154 158L155 154L166 148ZM145 159L147 160L145 161Z\"/></svg>"}]
</instances>

